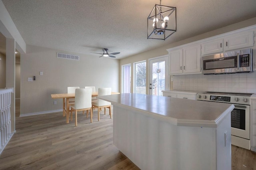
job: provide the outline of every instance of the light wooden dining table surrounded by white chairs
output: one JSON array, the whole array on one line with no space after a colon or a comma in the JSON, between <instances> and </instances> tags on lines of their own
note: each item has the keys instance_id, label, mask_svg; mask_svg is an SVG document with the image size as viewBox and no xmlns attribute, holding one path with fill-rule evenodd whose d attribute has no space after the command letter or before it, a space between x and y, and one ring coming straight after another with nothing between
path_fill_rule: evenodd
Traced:
<instances>
[{"instance_id":1,"label":"light wooden dining table surrounded by white chairs","mask_svg":"<svg viewBox=\"0 0 256 170\"><path fill-rule=\"evenodd\" d=\"M111 95L120 94L118 92L111 92ZM92 97L98 96L98 92L92 92ZM69 123L69 99L75 98L75 93L60 93L51 94L52 99L63 99L63 117L66 116L66 123Z\"/></svg>"}]
</instances>

